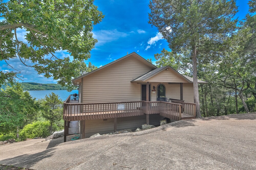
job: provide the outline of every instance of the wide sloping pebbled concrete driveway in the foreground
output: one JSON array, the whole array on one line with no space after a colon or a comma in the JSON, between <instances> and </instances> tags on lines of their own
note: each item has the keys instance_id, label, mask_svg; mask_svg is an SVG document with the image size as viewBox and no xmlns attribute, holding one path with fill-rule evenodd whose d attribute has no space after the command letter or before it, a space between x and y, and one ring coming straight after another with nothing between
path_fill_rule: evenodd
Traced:
<instances>
[{"instance_id":1,"label":"wide sloping pebbled concrete driveway in the foreground","mask_svg":"<svg viewBox=\"0 0 256 170\"><path fill-rule=\"evenodd\" d=\"M0 146L0 164L72 170L256 169L256 113L182 120L66 143L63 138L41 140Z\"/></svg>"}]
</instances>

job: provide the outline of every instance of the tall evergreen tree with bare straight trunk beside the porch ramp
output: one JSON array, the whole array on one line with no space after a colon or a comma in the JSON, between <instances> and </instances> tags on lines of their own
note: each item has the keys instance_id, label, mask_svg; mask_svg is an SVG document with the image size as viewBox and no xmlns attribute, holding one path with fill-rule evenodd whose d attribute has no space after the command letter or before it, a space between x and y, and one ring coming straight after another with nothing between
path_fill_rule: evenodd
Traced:
<instances>
[{"instance_id":1,"label":"tall evergreen tree with bare straight trunk beside the porch ramp","mask_svg":"<svg viewBox=\"0 0 256 170\"><path fill-rule=\"evenodd\" d=\"M192 59L196 117L201 117L197 83L197 56L200 52L216 53L223 41L236 29L234 0L151 0L149 23L156 26L170 49L181 53L190 50Z\"/></svg>"}]
</instances>

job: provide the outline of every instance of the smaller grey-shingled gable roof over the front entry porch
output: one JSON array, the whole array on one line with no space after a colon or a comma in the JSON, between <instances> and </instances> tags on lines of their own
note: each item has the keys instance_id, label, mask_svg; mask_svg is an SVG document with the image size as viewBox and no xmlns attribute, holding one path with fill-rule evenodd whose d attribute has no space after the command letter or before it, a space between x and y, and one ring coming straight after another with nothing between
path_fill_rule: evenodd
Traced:
<instances>
[{"instance_id":1,"label":"smaller grey-shingled gable roof over the front entry porch","mask_svg":"<svg viewBox=\"0 0 256 170\"><path fill-rule=\"evenodd\" d=\"M144 82L146 80L148 80L149 78L153 77L154 75L160 73L161 71L165 70L165 69L171 69L173 70L176 74L178 74L179 76L181 76L183 79L185 79L188 83L193 83L193 78L189 77L189 76L185 76L180 74L179 72L177 72L175 69L173 69L171 66L164 66L164 67L159 67L157 69L151 70L139 77L137 77L136 79L132 80L131 82ZM198 83L207 83L201 80L198 80Z\"/></svg>"}]
</instances>

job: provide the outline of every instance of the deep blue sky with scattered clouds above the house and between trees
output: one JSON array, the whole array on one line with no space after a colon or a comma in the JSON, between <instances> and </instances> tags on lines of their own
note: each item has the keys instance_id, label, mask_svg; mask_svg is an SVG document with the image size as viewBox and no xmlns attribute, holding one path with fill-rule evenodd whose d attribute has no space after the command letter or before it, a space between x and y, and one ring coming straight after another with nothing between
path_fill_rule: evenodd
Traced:
<instances>
[{"instance_id":1,"label":"deep blue sky with scattered clouds above the house and between trees","mask_svg":"<svg viewBox=\"0 0 256 170\"><path fill-rule=\"evenodd\" d=\"M98 43L91 51L91 62L97 67L104 66L116 59L135 51L145 59L161 53L163 48L168 49L167 42L162 39L156 27L148 24L149 1L137 0L95 0L94 4L103 12L105 18L93 28L94 38ZM239 12L235 18L243 19L248 12L248 1L237 0ZM17 31L19 40L24 40L25 31ZM68 56L65 51L57 51L57 56ZM24 66L19 60L13 59L9 63L21 71L24 82L56 83L52 78L47 79L38 75L32 68ZM0 61L0 70L12 70L4 61Z\"/></svg>"}]
</instances>

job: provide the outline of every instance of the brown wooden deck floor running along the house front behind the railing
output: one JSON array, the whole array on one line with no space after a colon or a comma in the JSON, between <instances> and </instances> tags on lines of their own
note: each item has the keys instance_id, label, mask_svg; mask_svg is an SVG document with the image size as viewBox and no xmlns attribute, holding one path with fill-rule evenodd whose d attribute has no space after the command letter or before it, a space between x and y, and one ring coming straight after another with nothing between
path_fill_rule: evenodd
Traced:
<instances>
[{"instance_id":1,"label":"brown wooden deck floor running along the house front behind the railing","mask_svg":"<svg viewBox=\"0 0 256 170\"><path fill-rule=\"evenodd\" d=\"M68 109L70 110L68 114L63 115L63 119L67 121L78 121L78 120L90 120L90 119L107 119L115 117L127 117L127 116L138 116L143 114L160 114L161 116L167 117L169 119L178 120L179 112L175 111L175 108L169 107L168 109L161 109L161 106L146 106L141 107L131 107L127 110L112 110L112 111L97 111L96 107L94 108L83 108L83 112L80 112L80 106L78 101L70 100L69 103L78 104L71 105ZM101 108L102 109L102 108ZM99 109L98 109L99 110ZM103 108L104 110L104 108ZM147 111L145 111L147 110ZM176 109L177 110L177 109ZM145 113L146 112L146 113ZM181 120L183 119L194 119L194 115L181 113Z\"/></svg>"}]
</instances>

